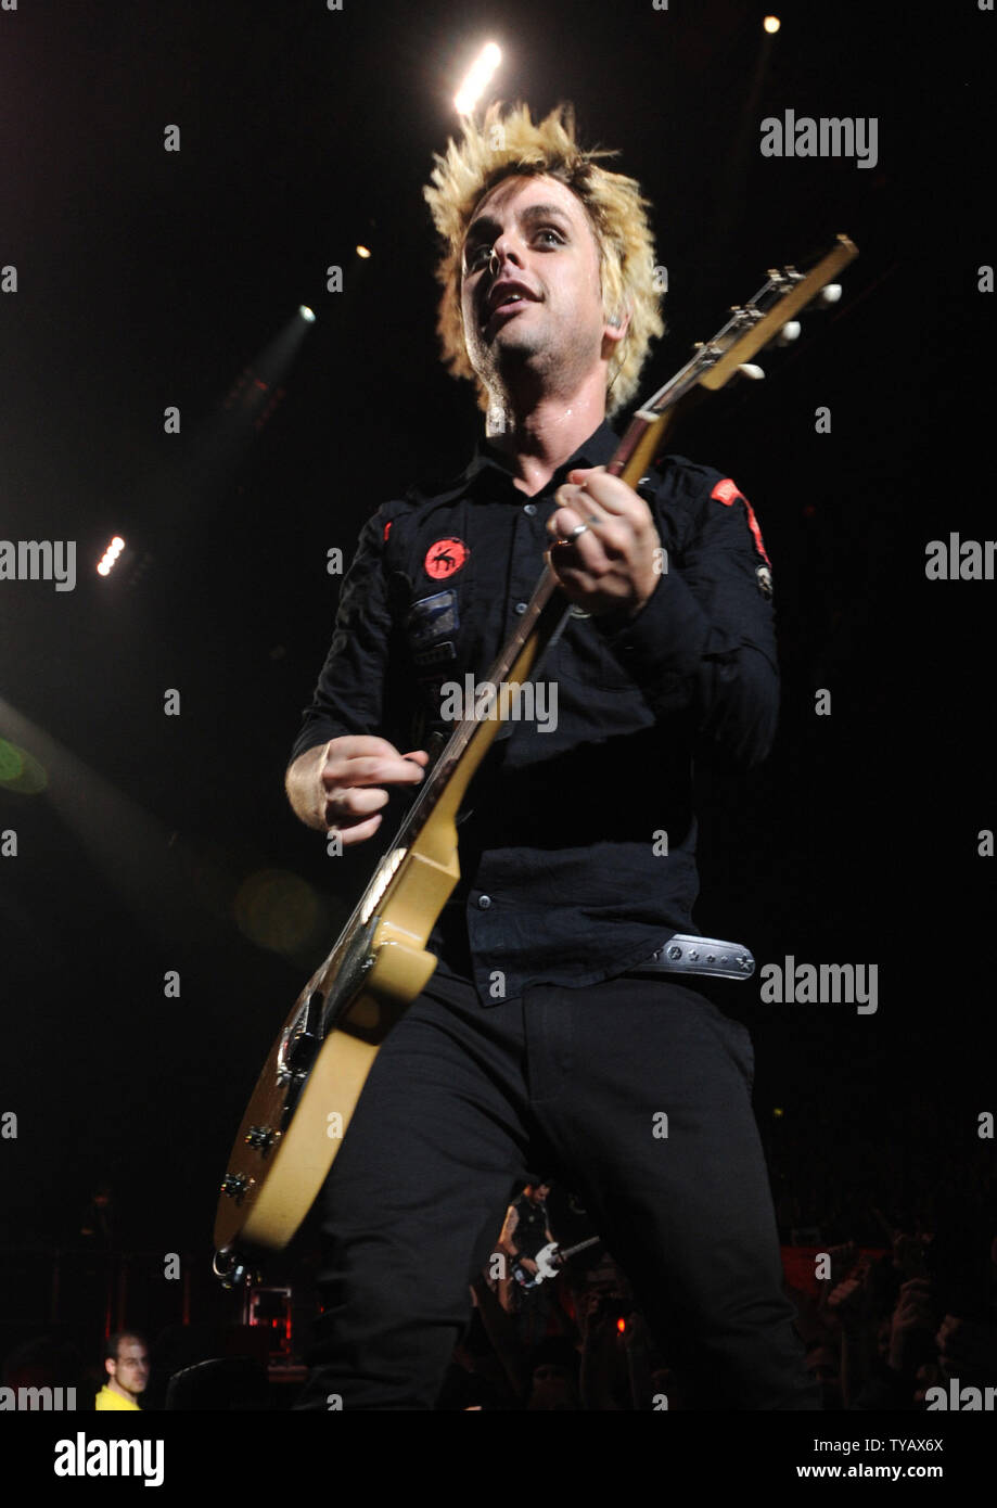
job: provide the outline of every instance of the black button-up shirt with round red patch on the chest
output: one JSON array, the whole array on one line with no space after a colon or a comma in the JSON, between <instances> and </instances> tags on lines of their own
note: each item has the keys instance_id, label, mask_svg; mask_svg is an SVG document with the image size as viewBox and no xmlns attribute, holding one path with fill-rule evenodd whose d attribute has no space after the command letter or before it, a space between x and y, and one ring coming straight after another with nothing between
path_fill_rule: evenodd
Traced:
<instances>
[{"instance_id":1,"label":"black button-up shirt with round red patch on the chest","mask_svg":"<svg viewBox=\"0 0 997 1508\"><path fill-rule=\"evenodd\" d=\"M345 733L401 751L449 734L469 710L456 692L487 676L537 585L554 493L617 443L603 422L528 498L480 442L442 490L379 508L291 760ZM505 725L459 825L462 879L430 947L486 1004L532 983L611 979L697 932L692 742L753 765L774 737L771 575L754 513L721 472L674 455L638 490L665 549L655 593L623 626L572 615L540 668L546 700Z\"/></svg>"}]
</instances>

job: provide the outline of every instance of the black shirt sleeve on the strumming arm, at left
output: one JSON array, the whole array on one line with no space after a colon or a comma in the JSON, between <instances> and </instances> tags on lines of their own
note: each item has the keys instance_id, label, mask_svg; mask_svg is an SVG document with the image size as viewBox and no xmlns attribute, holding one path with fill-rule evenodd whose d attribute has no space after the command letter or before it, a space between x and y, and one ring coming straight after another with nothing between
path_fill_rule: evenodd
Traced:
<instances>
[{"instance_id":1,"label":"black shirt sleeve on the strumming arm, at left","mask_svg":"<svg viewBox=\"0 0 997 1508\"><path fill-rule=\"evenodd\" d=\"M326 664L288 763L347 733L385 736L385 680L392 615L385 529L391 505L374 513L357 540L339 591L335 632Z\"/></svg>"}]
</instances>

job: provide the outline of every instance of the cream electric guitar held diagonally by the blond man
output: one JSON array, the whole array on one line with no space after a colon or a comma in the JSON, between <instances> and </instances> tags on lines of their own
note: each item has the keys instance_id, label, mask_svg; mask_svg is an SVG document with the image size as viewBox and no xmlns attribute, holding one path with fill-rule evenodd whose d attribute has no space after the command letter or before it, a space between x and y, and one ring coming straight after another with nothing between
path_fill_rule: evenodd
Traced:
<instances>
[{"instance_id":1,"label":"cream electric guitar held diagonally by the blond man","mask_svg":"<svg viewBox=\"0 0 997 1508\"><path fill-rule=\"evenodd\" d=\"M808 273L769 271L759 293L732 309L713 339L637 410L606 469L635 487L680 412L739 371L763 375L751 359L798 335L796 315L811 300L834 303L840 296L834 277L857 255L839 235ZM535 676L569 611L546 566L487 674L492 686L511 689ZM222 1181L214 1244L216 1271L226 1283L246 1277L252 1250L282 1249L305 1220L380 1045L436 968L425 942L460 878L457 814L499 730L501 710L483 700L454 727L335 947L281 1027Z\"/></svg>"}]
</instances>

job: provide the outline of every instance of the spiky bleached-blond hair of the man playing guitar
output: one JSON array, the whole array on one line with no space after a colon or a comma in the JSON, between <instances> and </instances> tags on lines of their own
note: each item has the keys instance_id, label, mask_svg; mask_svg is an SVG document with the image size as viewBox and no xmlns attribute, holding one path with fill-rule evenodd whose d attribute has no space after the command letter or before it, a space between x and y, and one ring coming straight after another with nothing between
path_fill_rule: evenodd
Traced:
<instances>
[{"instance_id":1,"label":"spiky bleached-blond hair of the man playing guitar","mask_svg":"<svg viewBox=\"0 0 997 1508\"><path fill-rule=\"evenodd\" d=\"M489 106L481 124L465 121L465 139L449 140L446 152L433 154L431 182L422 195L443 250L436 280L443 294L436 332L443 363L452 377L474 382L478 407L487 412L489 394L468 359L460 315L463 241L471 217L502 178L546 173L581 199L599 247L599 277L606 320L630 314L629 329L614 347L606 379L606 413L612 416L637 392L652 339L664 335L662 294L655 287L655 241L647 220L650 201L635 178L599 167L597 157L618 157L606 148L582 151L575 140L575 109L558 104L534 124L529 106L516 104L505 116L501 101Z\"/></svg>"}]
</instances>

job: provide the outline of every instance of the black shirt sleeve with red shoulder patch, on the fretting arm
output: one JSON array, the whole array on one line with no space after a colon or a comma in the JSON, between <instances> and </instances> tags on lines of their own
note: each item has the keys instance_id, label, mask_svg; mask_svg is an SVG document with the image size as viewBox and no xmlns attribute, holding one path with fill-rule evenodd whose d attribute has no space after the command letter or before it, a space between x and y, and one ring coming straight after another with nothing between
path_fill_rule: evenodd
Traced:
<instances>
[{"instance_id":1,"label":"black shirt sleeve with red shoulder patch, on the fretting arm","mask_svg":"<svg viewBox=\"0 0 997 1508\"><path fill-rule=\"evenodd\" d=\"M698 733L750 768L775 737L778 659L768 556L733 483L707 478L674 553L635 618L596 623L656 718L689 712Z\"/></svg>"}]
</instances>

